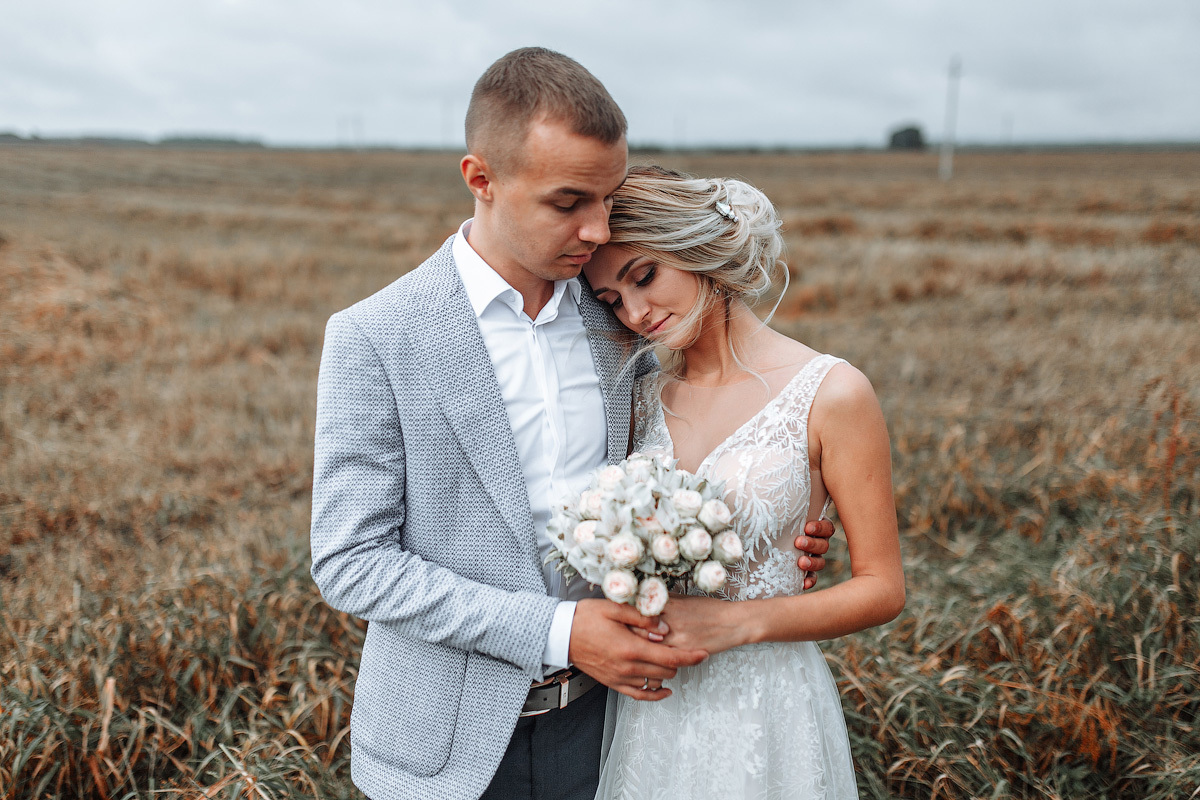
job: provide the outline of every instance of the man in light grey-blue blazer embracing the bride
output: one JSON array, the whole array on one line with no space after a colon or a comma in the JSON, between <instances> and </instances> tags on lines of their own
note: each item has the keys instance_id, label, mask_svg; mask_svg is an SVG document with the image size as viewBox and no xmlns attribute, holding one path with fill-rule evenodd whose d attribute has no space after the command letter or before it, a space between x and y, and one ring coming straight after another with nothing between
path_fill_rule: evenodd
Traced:
<instances>
[{"instance_id":1,"label":"man in light grey-blue blazer embracing the bride","mask_svg":"<svg viewBox=\"0 0 1200 800\"><path fill-rule=\"evenodd\" d=\"M655 367L624 368L623 329L578 278L608 240L625 118L582 66L526 48L475 85L467 148L474 218L329 321L312 575L370 621L350 739L372 800L590 799L596 682L655 700L706 657L542 565L553 499L624 458L632 381Z\"/></svg>"}]
</instances>

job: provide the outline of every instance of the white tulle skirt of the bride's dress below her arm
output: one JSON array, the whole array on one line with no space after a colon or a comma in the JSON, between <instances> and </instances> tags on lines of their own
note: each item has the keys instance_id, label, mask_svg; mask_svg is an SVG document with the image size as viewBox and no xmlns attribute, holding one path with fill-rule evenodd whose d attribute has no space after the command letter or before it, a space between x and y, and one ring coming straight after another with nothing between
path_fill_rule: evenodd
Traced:
<instances>
[{"instance_id":1,"label":"white tulle skirt of the bride's dress below her arm","mask_svg":"<svg viewBox=\"0 0 1200 800\"><path fill-rule=\"evenodd\" d=\"M812 642L719 652L653 703L611 692L598 800L853 800L841 698Z\"/></svg>"}]
</instances>

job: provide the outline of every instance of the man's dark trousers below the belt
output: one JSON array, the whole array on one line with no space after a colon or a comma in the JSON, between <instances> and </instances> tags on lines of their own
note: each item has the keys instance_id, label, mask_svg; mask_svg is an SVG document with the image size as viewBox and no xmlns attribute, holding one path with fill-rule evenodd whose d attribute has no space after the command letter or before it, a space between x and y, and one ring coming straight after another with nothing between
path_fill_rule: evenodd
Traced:
<instances>
[{"instance_id":1,"label":"man's dark trousers below the belt","mask_svg":"<svg viewBox=\"0 0 1200 800\"><path fill-rule=\"evenodd\" d=\"M596 686L565 709L521 717L480 800L593 800L608 691Z\"/></svg>"}]
</instances>

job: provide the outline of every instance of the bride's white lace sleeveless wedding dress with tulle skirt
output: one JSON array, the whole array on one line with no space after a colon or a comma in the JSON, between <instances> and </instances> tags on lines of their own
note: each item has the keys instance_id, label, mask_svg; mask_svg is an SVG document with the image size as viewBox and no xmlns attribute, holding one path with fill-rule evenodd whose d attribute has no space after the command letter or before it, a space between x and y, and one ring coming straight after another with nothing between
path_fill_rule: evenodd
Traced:
<instances>
[{"instance_id":1,"label":"bride's white lace sleeveless wedding dress with tulle skirt","mask_svg":"<svg viewBox=\"0 0 1200 800\"><path fill-rule=\"evenodd\" d=\"M793 541L809 513L809 409L829 369L821 355L716 446L697 473L725 481L745 557L720 596L794 595ZM634 449L673 457L655 383L635 389ZM598 800L857 798L838 687L814 642L755 644L710 656L653 703L610 693L612 734Z\"/></svg>"}]
</instances>

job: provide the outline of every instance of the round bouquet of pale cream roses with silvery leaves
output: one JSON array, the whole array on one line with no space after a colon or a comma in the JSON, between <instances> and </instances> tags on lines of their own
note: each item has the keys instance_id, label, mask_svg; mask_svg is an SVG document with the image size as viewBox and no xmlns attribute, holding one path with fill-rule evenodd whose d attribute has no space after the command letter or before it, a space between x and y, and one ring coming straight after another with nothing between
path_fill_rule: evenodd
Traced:
<instances>
[{"instance_id":1,"label":"round bouquet of pale cream roses with silvery leaves","mask_svg":"<svg viewBox=\"0 0 1200 800\"><path fill-rule=\"evenodd\" d=\"M720 482L634 453L598 469L578 498L558 507L546 528L554 542L546 563L599 585L613 602L656 616L668 589L690 579L702 591L716 591L726 565L742 558L722 495Z\"/></svg>"}]
</instances>

